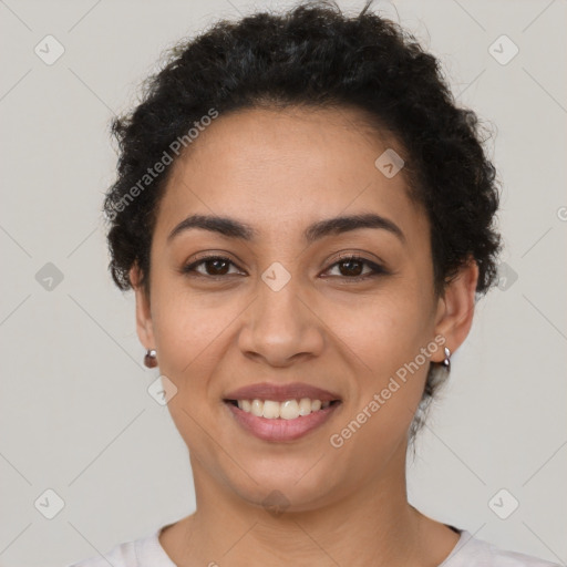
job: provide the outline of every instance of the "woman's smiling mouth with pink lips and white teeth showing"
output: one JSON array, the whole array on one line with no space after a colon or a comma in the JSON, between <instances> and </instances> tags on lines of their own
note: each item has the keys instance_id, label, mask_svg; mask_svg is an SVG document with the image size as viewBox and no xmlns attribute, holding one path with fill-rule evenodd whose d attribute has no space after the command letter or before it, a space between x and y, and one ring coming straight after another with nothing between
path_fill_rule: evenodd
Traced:
<instances>
[{"instance_id":1,"label":"woman's smiling mouth with pink lips and white teeth showing","mask_svg":"<svg viewBox=\"0 0 567 567\"><path fill-rule=\"evenodd\" d=\"M236 422L264 441L298 440L326 423L342 405L331 392L307 384L257 384L223 400Z\"/></svg>"}]
</instances>

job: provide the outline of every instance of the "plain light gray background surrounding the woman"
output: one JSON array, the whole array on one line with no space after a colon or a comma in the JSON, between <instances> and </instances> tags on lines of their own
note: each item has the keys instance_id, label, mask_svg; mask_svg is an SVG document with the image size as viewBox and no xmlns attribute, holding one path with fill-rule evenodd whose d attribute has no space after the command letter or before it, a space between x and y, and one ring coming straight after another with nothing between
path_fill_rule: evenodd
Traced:
<instances>
[{"instance_id":1,"label":"plain light gray background surrounding the woman","mask_svg":"<svg viewBox=\"0 0 567 567\"><path fill-rule=\"evenodd\" d=\"M134 298L106 271L107 125L135 103L164 48L268 6L289 4L0 2L1 566L68 565L194 509L185 444L146 392L158 372L142 365ZM358 12L363 1L340 6ZM481 301L453 358L409 464L410 501L565 564L566 2L375 6L442 59L462 104L496 125L488 146L504 184L501 289ZM51 65L34 52L48 34L65 50ZM507 64L488 51L502 34L519 48ZM511 45L501 44L502 59ZM48 262L62 281L45 279ZM53 519L48 488L64 502ZM502 488L519 502L507 519L489 505ZM496 498L501 514L508 493Z\"/></svg>"}]
</instances>

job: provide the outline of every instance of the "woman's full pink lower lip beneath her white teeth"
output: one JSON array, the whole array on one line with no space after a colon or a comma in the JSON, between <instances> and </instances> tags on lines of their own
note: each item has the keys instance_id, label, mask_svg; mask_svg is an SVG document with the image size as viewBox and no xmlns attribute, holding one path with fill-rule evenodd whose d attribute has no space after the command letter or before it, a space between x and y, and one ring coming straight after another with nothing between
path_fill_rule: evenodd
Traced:
<instances>
[{"instance_id":1,"label":"woman's full pink lower lip beneath her white teeth","mask_svg":"<svg viewBox=\"0 0 567 567\"><path fill-rule=\"evenodd\" d=\"M245 412L230 402L225 402L233 412L236 421L249 433L264 441L295 441L307 435L322 425L341 403L333 403L324 410L311 412L309 415L300 415L295 420L268 420Z\"/></svg>"}]
</instances>

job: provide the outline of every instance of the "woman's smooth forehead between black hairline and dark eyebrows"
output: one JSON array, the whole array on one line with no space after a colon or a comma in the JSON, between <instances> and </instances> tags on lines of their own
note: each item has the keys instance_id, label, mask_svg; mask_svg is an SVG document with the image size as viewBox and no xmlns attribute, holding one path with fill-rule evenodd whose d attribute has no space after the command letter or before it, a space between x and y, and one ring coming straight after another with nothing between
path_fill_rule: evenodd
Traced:
<instances>
[{"instance_id":1,"label":"woman's smooth forehead between black hairline and dark eyebrows","mask_svg":"<svg viewBox=\"0 0 567 567\"><path fill-rule=\"evenodd\" d=\"M419 230L424 215L409 198L403 169L386 177L375 165L390 150L403 155L351 109L220 114L172 166L155 238L195 213L237 218L266 238L362 212Z\"/></svg>"}]
</instances>

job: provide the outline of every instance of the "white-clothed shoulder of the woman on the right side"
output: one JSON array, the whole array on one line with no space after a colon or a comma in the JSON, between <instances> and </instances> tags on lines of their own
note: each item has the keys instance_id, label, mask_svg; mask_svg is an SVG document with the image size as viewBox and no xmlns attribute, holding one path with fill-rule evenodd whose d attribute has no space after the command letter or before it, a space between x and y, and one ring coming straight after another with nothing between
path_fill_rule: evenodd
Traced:
<instances>
[{"instance_id":1,"label":"white-clothed shoulder of the woman on the right side","mask_svg":"<svg viewBox=\"0 0 567 567\"><path fill-rule=\"evenodd\" d=\"M457 545L439 567L559 567L559 564L502 549L463 530Z\"/></svg>"}]
</instances>

